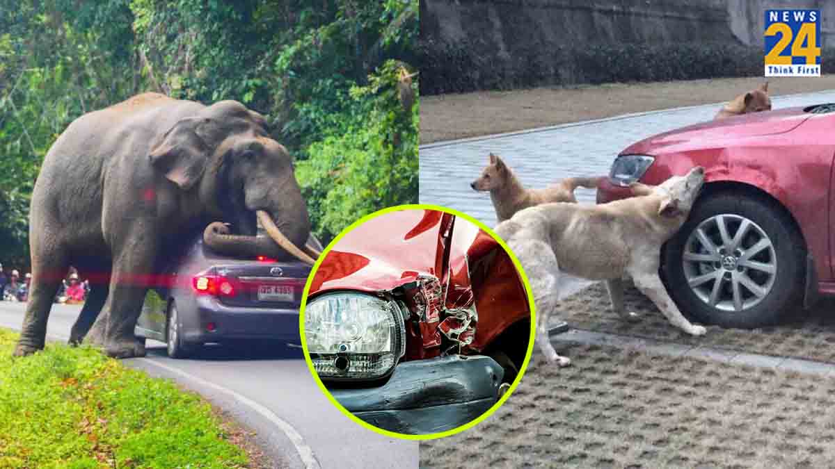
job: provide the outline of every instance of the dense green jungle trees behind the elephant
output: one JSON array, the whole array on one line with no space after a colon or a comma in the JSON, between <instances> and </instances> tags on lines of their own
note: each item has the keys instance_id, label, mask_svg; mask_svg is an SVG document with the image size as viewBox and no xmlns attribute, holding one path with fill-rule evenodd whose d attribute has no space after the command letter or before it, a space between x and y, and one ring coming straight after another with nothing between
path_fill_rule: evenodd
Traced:
<instances>
[{"instance_id":1,"label":"dense green jungle trees behind the elephant","mask_svg":"<svg viewBox=\"0 0 835 469\"><path fill-rule=\"evenodd\" d=\"M417 202L401 73L418 28L418 0L0 0L0 262L28 270L29 200L63 129L145 91L266 114L323 243Z\"/></svg>"}]
</instances>

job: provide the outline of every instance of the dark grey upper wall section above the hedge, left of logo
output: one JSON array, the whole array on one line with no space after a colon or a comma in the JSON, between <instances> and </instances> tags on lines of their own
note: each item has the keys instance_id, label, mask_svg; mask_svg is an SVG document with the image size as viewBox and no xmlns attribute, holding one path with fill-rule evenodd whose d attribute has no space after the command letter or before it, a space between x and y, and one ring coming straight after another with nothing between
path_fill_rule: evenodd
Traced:
<instances>
[{"instance_id":1,"label":"dark grey upper wall section above the hedge, left of logo","mask_svg":"<svg viewBox=\"0 0 835 469\"><path fill-rule=\"evenodd\" d=\"M483 40L503 53L534 43L733 39L726 0L423 0L421 34Z\"/></svg>"}]
</instances>

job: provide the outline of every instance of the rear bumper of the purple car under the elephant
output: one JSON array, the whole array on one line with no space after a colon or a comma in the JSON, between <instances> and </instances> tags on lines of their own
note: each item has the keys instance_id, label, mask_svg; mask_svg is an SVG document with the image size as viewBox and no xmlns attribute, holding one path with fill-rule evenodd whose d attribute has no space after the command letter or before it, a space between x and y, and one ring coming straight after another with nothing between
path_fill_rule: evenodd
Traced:
<instances>
[{"instance_id":1,"label":"rear bumper of the purple car under the elephant","mask_svg":"<svg viewBox=\"0 0 835 469\"><path fill-rule=\"evenodd\" d=\"M297 308L229 306L202 296L195 300L195 315L190 322L184 324L182 334L192 344L247 339L301 343Z\"/></svg>"}]
</instances>

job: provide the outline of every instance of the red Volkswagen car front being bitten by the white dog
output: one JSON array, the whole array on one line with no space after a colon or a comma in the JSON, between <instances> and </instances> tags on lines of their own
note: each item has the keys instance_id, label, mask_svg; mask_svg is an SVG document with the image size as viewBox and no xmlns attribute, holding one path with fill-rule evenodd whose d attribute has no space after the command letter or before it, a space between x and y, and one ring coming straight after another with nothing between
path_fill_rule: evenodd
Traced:
<instances>
[{"instance_id":1,"label":"red Volkswagen car front being bitten by the white dog","mask_svg":"<svg viewBox=\"0 0 835 469\"><path fill-rule=\"evenodd\" d=\"M706 184L661 252L673 300L696 320L754 328L835 293L835 104L691 125L631 145L597 202L630 197L695 165Z\"/></svg>"}]
</instances>

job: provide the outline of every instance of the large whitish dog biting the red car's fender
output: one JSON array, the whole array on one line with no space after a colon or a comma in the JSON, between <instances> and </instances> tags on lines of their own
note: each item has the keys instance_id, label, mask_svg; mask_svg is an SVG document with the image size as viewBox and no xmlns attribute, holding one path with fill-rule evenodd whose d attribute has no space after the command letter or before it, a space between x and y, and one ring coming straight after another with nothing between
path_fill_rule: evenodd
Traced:
<instances>
[{"instance_id":1,"label":"large whitish dog biting the red car's fender","mask_svg":"<svg viewBox=\"0 0 835 469\"><path fill-rule=\"evenodd\" d=\"M623 303L623 275L630 275L668 320L691 335L705 334L681 315L658 276L661 245L684 224L705 182L697 166L658 186L632 184L636 195L608 204L542 204L498 224L496 233L519 258L536 305L536 340L550 361L567 366L548 338L549 315L556 309L560 275L605 280L612 309L635 320Z\"/></svg>"}]
</instances>

